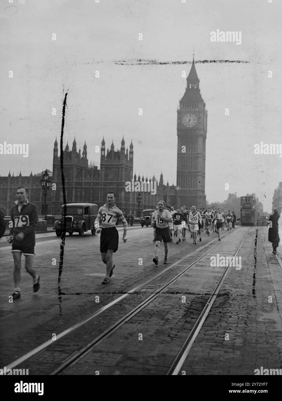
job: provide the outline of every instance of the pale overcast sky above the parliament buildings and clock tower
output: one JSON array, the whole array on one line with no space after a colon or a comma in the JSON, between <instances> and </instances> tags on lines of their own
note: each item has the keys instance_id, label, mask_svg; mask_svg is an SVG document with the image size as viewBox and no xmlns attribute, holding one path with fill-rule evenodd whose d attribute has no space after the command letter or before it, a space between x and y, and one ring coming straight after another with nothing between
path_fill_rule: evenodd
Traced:
<instances>
[{"instance_id":1,"label":"pale overcast sky above the parliament buildings and clock tower","mask_svg":"<svg viewBox=\"0 0 282 401\"><path fill-rule=\"evenodd\" d=\"M65 144L75 137L82 150L86 140L89 162L99 166L95 146L103 136L106 149L113 140L115 150L124 136L126 147L133 141L133 174L159 180L162 170L165 183L176 184L176 111L186 87L181 72L189 73L194 52L195 61L248 61L196 63L208 111L207 201L255 192L264 211L271 210L282 158L255 155L254 144L282 142L281 2L7 0L0 11L0 143L29 144L28 158L0 155L1 176L52 170L68 90ZM242 44L211 42L217 29L241 31ZM137 59L168 64L138 65ZM187 64L172 64L181 61Z\"/></svg>"}]
</instances>

